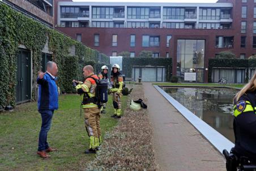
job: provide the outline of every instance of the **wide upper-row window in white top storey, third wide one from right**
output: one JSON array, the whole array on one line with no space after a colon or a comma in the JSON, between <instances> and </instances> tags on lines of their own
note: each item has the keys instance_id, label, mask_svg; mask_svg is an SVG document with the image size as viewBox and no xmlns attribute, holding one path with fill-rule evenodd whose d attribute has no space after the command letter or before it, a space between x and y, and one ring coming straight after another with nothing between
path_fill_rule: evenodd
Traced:
<instances>
[{"instance_id":1,"label":"wide upper-row window in white top storey, third wide one from right","mask_svg":"<svg viewBox=\"0 0 256 171\"><path fill-rule=\"evenodd\" d=\"M127 7L128 19L148 19L150 8L148 7Z\"/></svg>"}]
</instances>

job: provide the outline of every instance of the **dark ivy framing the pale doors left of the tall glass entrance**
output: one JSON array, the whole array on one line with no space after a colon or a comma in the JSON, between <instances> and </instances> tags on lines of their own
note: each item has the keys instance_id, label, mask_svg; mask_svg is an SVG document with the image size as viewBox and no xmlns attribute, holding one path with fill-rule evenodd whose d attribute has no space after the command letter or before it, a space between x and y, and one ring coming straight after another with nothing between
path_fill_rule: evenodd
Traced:
<instances>
[{"instance_id":1,"label":"dark ivy framing the pale doors left of the tall glass entrance","mask_svg":"<svg viewBox=\"0 0 256 171\"><path fill-rule=\"evenodd\" d=\"M126 78L132 78L133 66L164 66L166 80L169 81L172 72L172 58L123 58L122 74L125 74Z\"/></svg>"}]
</instances>

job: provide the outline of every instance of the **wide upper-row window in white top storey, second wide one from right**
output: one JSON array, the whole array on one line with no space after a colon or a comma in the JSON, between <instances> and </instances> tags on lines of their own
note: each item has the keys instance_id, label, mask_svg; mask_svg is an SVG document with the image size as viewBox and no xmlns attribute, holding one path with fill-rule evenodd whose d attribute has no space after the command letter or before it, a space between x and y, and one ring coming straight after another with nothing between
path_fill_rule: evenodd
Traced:
<instances>
[{"instance_id":1,"label":"wide upper-row window in white top storey, second wide one from right","mask_svg":"<svg viewBox=\"0 0 256 171\"><path fill-rule=\"evenodd\" d=\"M164 7L163 19L184 19L184 8Z\"/></svg>"}]
</instances>

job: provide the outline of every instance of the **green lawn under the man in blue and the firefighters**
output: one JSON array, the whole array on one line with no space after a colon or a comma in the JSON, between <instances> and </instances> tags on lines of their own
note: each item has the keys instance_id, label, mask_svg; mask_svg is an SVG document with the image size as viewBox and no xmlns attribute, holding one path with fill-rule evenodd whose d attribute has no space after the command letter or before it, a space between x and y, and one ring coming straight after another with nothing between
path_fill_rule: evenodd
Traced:
<instances>
[{"instance_id":1,"label":"green lawn under the man in blue and the firefighters","mask_svg":"<svg viewBox=\"0 0 256 171\"><path fill-rule=\"evenodd\" d=\"M127 96L122 97L123 109ZM49 145L57 148L49 159L37 154L41 116L36 102L22 104L14 112L0 113L0 170L83 170L95 155L85 155L88 135L84 126L83 110L80 118L78 95L59 96L56 110L48 132ZM117 125L113 114L112 96L106 104L106 114L101 115L103 135Z\"/></svg>"}]
</instances>

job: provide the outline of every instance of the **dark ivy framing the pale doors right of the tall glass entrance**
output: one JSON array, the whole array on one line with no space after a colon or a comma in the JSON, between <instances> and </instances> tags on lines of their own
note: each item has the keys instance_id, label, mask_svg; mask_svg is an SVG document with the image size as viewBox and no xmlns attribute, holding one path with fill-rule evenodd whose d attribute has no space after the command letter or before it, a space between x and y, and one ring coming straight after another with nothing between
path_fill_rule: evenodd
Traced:
<instances>
[{"instance_id":1,"label":"dark ivy framing the pale doors right of the tall glass entrance","mask_svg":"<svg viewBox=\"0 0 256 171\"><path fill-rule=\"evenodd\" d=\"M256 59L209 59L208 64L208 82L211 83L212 68L254 68L256 67ZM248 80L248 72L246 73L246 80Z\"/></svg>"}]
</instances>

